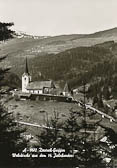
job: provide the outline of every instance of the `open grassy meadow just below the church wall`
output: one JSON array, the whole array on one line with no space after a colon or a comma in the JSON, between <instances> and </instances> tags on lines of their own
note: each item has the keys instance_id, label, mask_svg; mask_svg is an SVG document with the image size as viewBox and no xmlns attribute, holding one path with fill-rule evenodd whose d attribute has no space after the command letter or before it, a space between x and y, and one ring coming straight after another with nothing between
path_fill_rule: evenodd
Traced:
<instances>
[{"instance_id":1,"label":"open grassy meadow just below the church wall","mask_svg":"<svg viewBox=\"0 0 117 168\"><path fill-rule=\"evenodd\" d=\"M66 117L71 108L77 111L79 109L74 103L32 100L15 101L14 99L10 100L7 106L9 111L15 111L15 114L20 113L24 116L23 121L36 122L38 124L44 124L43 119L47 113L49 118L54 111L59 113L59 117ZM28 120L26 116L29 116Z\"/></svg>"}]
</instances>

